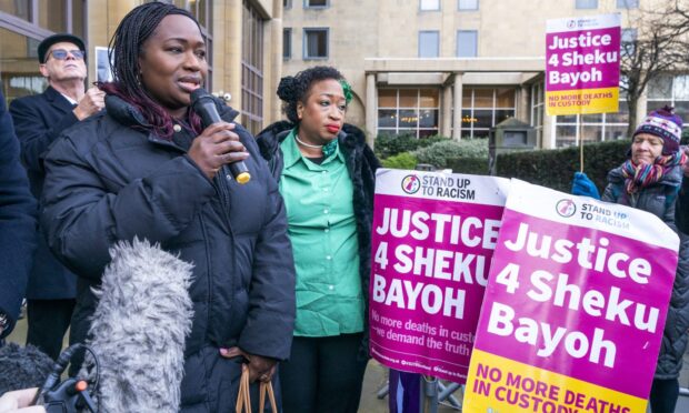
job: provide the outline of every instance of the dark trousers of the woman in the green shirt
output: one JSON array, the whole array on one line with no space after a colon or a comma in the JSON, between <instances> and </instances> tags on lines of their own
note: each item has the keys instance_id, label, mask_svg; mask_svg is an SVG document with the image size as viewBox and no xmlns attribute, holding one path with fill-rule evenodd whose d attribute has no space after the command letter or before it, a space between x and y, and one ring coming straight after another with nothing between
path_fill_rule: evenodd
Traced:
<instances>
[{"instance_id":1,"label":"dark trousers of the woman in the green shirt","mask_svg":"<svg viewBox=\"0 0 689 413\"><path fill-rule=\"evenodd\" d=\"M359 360L362 333L300 338L280 364L284 413L356 413L367 361Z\"/></svg>"}]
</instances>

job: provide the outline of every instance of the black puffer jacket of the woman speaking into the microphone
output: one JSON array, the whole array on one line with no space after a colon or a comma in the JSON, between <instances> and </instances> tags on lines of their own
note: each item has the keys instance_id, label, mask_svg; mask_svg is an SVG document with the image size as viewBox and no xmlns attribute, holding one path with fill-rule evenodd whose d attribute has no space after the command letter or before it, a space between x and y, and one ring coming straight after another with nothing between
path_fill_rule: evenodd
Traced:
<instances>
[{"instance_id":1,"label":"black puffer jacket of the woman speaking into the microphone","mask_svg":"<svg viewBox=\"0 0 689 413\"><path fill-rule=\"evenodd\" d=\"M182 411L229 411L240 369L218 347L280 360L290 353L294 266L278 185L240 125L251 155L244 185L222 173L209 180L184 149L132 129L146 122L122 100L108 97L106 107L63 132L44 162L41 222L52 251L79 276L70 341L87 335L90 288L110 262L108 249L134 236L158 242L194 265ZM237 114L219 110L228 122Z\"/></svg>"}]
</instances>

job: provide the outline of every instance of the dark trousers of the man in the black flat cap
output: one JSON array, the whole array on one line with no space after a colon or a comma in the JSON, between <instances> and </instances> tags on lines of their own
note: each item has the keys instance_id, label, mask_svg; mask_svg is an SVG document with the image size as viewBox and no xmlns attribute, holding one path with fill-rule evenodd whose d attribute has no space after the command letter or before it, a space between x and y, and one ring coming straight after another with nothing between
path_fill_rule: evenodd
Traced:
<instances>
[{"instance_id":1,"label":"dark trousers of the man in the black flat cap","mask_svg":"<svg viewBox=\"0 0 689 413\"><path fill-rule=\"evenodd\" d=\"M69 328L76 300L27 300L29 331L27 344L39 347L57 360Z\"/></svg>"}]
</instances>

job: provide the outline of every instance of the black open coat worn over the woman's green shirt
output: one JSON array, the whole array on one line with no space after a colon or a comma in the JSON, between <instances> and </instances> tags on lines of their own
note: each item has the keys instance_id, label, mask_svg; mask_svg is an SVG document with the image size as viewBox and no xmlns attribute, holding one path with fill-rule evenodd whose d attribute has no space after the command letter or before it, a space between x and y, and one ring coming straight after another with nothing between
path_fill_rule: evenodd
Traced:
<instances>
[{"instance_id":1,"label":"black open coat worn over the woman's green shirt","mask_svg":"<svg viewBox=\"0 0 689 413\"><path fill-rule=\"evenodd\" d=\"M287 138L294 125L288 121L276 122L261 131L257 141L261 155L268 161L276 181L282 173L283 158L280 142ZM369 357L368 309L369 280L371 276L371 226L373 224L373 195L376 192L376 170L380 162L371 148L366 144L366 135L359 128L346 123L338 137L340 151L347 160L347 170L353 184L353 206L357 215L357 236L359 240L359 275L366 303L363 340L359 349L360 357Z\"/></svg>"}]
</instances>

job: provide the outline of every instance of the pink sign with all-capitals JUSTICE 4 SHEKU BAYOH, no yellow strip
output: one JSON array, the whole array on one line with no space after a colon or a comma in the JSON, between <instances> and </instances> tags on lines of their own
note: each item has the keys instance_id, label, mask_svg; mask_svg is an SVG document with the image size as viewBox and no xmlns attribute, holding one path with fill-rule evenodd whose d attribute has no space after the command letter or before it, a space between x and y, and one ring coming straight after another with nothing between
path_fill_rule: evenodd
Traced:
<instances>
[{"instance_id":1,"label":"pink sign with all-capitals JUSTICE 4 SHEKU BAYOH, no yellow strip","mask_svg":"<svg viewBox=\"0 0 689 413\"><path fill-rule=\"evenodd\" d=\"M378 171L369 318L376 360L466 381L508 184Z\"/></svg>"}]
</instances>

